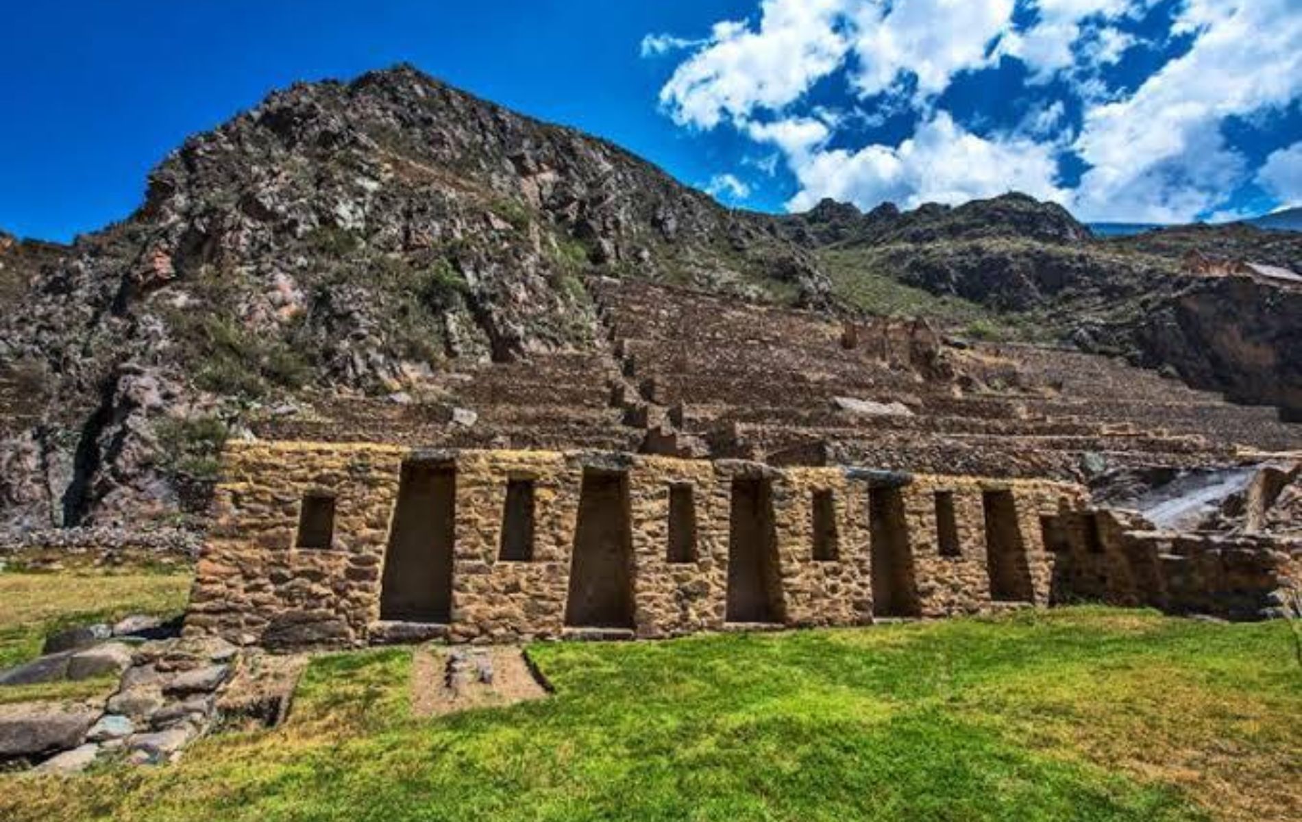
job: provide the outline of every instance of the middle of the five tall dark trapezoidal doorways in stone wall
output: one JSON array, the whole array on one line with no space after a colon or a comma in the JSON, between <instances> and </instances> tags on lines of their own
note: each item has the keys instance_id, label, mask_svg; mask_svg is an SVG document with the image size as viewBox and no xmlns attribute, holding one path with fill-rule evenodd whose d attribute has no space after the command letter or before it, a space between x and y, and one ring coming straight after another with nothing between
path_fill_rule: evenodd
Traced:
<instances>
[{"instance_id":1,"label":"middle of the five tall dark trapezoidal doorways in stone wall","mask_svg":"<svg viewBox=\"0 0 1302 822\"><path fill-rule=\"evenodd\" d=\"M736 479L728 535L727 620L772 624L784 618L772 483Z\"/></svg>"}]
</instances>

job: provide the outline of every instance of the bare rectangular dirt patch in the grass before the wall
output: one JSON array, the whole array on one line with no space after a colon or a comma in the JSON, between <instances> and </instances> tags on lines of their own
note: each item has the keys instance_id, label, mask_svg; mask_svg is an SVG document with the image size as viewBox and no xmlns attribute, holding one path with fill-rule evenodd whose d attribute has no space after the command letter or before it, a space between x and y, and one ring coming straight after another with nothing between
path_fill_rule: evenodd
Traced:
<instances>
[{"instance_id":1,"label":"bare rectangular dirt patch in the grass before the wall","mask_svg":"<svg viewBox=\"0 0 1302 822\"><path fill-rule=\"evenodd\" d=\"M519 648L422 646L411 662L417 717L540 700L548 691Z\"/></svg>"}]
</instances>

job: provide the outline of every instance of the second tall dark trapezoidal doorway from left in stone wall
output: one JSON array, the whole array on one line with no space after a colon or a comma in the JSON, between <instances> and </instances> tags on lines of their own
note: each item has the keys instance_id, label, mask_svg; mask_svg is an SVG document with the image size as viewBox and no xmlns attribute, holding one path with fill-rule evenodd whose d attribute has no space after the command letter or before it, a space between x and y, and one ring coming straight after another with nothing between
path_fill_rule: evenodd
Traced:
<instances>
[{"instance_id":1,"label":"second tall dark trapezoidal doorway from left in stone wall","mask_svg":"<svg viewBox=\"0 0 1302 822\"><path fill-rule=\"evenodd\" d=\"M625 473L583 472L565 624L633 627L633 529Z\"/></svg>"}]
</instances>

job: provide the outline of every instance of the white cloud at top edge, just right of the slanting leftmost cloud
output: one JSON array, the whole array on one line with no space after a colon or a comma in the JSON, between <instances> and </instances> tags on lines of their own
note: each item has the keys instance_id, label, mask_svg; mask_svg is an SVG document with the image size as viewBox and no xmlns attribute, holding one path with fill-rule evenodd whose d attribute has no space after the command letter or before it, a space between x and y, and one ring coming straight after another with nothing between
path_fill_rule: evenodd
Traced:
<instances>
[{"instance_id":1,"label":"white cloud at top edge, just right of the slanting leftmost cloud","mask_svg":"<svg viewBox=\"0 0 1302 822\"><path fill-rule=\"evenodd\" d=\"M896 0L888 12L862 3L854 14L859 65L852 82L872 96L911 74L921 98L937 95L960 72L990 62L990 44L1012 18L1013 0Z\"/></svg>"}]
</instances>

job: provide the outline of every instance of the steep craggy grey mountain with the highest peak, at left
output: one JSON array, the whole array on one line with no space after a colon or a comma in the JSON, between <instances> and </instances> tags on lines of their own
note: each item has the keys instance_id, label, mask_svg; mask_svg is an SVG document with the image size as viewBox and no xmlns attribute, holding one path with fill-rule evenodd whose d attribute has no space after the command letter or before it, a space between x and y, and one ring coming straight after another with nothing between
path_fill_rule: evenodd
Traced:
<instances>
[{"instance_id":1,"label":"steep craggy grey mountain with the highest peak, at left","mask_svg":"<svg viewBox=\"0 0 1302 822\"><path fill-rule=\"evenodd\" d=\"M27 256L0 319L0 388L22 386L0 509L23 525L184 507L253 402L589 345L581 273L828 303L756 221L409 68L273 94L173 152L126 221Z\"/></svg>"}]
</instances>

